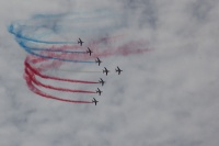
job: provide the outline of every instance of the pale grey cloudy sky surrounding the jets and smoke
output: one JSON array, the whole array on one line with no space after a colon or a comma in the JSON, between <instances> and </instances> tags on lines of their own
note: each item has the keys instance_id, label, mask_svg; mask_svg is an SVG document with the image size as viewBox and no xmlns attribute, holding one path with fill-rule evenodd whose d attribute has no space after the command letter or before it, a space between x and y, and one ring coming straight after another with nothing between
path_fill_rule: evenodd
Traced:
<instances>
[{"instance_id":1,"label":"pale grey cloudy sky surrounding the jets and smoke","mask_svg":"<svg viewBox=\"0 0 219 146\"><path fill-rule=\"evenodd\" d=\"M85 22L69 21L77 14ZM59 16L54 21L48 15ZM0 0L0 145L218 145L217 0ZM8 31L14 23L39 25L39 31L43 26L46 31L57 26L61 31L55 41L82 36L92 43L105 36L123 36L99 47L111 52L128 42L140 42L141 45L127 45L126 50L140 46L147 52L105 56L103 65L112 70L108 77L50 70L49 74L69 78L106 80L101 97L55 92L73 99L95 97L96 106L50 100L35 94L25 81L24 60L28 54ZM50 38L48 34L39 36L34 29L23 33ZM116 66L124 70L120 76L114 72ZM102 69L70 63L62 68Z\"/></svg>"}]
</instances>

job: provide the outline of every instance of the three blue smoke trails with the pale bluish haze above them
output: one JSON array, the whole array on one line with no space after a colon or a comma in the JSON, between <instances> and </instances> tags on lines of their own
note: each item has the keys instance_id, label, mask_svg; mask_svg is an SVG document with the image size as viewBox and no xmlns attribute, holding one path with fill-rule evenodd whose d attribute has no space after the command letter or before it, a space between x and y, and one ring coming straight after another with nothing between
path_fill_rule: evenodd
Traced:
<instances>
[{"instance_id":1,"label":"three blue smoke trails with the pale bluish haze above them","mask_svg":"<svg viewBox=\"0 0 219 146\"><path fill-rule=\"evenodd\" d=\"M91 36L105 35L108 32L115 31L119 26L118 13L108 9L97 9L93 11L72 11L71 13L60 14L37 14L27 21L16 21L8 26L8 31L15 36L16 42L27 53L48 59L57 59L72 63L95 63L74 59L65 59L51 57L36 53L37 50L55 52L55 53L78 53L85 54L87 52L72 52L61 49L44 48L46 45L78 45L77 41L50 41L56 36L70 36L74 34L87 34ZM45 40L46 38L46 40ZM34 43L37 47L31 47L27 43ZM39 47L38 47L39 46Z\"/></svg>"}]
</instances>

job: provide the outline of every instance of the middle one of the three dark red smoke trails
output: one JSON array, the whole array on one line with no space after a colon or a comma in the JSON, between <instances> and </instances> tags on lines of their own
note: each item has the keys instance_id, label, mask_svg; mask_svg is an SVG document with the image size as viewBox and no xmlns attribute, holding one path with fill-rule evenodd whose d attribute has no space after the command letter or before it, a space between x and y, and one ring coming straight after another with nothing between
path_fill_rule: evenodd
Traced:
<instances>
[{"instance_id":1,"label":"middle one of the three dark red smoke trails","mask_svg":"<svg viewBox=\"0 0 219 146\"><path fill-rule=\"evenodd\" d=\"M25 68L25 74L30 77L30 79L37 86L39 87L44 87L47 89L51 89L51 90L57 90L57 91L66 91L66 92L78 92L78 93L96 93L94 91L85 91L85 90L71 90L71 89L66 89L66 88L57 88L54 86L48 86L48 85L44 85L39 81L36 80L35 76L33 72L30 72L27 68Z\"/></svg>"}]
</instances>

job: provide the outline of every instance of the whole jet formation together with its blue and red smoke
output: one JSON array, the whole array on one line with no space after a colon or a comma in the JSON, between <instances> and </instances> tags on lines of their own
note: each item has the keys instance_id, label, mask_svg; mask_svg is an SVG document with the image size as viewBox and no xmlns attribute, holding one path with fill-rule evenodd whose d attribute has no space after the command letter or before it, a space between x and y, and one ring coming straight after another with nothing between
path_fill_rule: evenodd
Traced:
<instances>
[{"instance_id":1,"label":"whole jet formation together with its blue and red smoke","mask_svg":"<svg viewBox=\"0 0 219 146\"><path fill-rule=\"evenodd\" d=\"M49 20L49 18L53 19L54 15L46 15L46 19ZM36 23L35 19L41 21ZM46 19L41 15L39 18L32 18L30 21L14 21L8 25L8 32L14 36L18 45L26 52L23 64L23 77L26 87L42 98L76 104L95 103L96 105L99 98L105 93L103 86L107 85L106 79L111 75L118 76L125 71L117 65L115 65L115 68L108 68L102 59L115 55L125 57L127 55L143 54L150 50L146 47L147 44L137 40L131 41L124 34L99 35L99 37L92 37L92 41L88 43L84 38L82 40L82 36L80 36L81 38L67 38L69 34L65 35L65 31L61 32L61 30L58 33L48 33L44 29L44 25L47 24ZM31 27L28 23L32 24ZM53 26L48 27L54 30ZM57 37L59 33L61 34L60 37ZM123 38L125 41L122 41ZM102 49L103 45L105 49ZM82 67L82 65L84 66ZM77 67L72 68L71 66ZM91 68L92 70L79 70L80 68L87 69L87 67L93 66L95 68ZM73 72L87 74L90 79L77 79L84 76L72 77L71 74ZM96 77L100 75L101 77ZM79 99L74 99L77 97L72 98L72 94L93 94L95 97L78 97Z\"/></svg>"}]
</instances>

